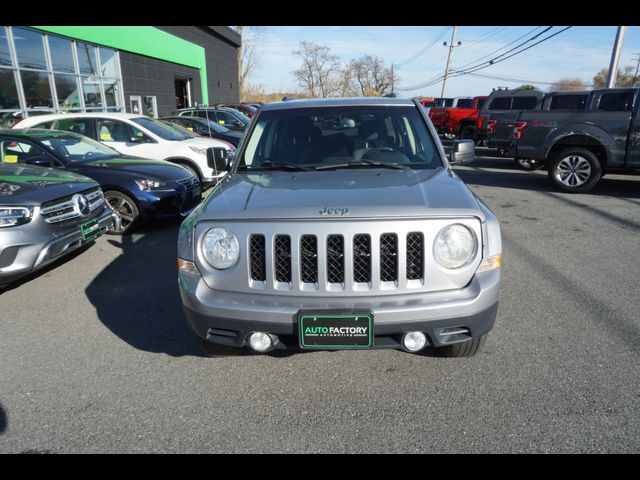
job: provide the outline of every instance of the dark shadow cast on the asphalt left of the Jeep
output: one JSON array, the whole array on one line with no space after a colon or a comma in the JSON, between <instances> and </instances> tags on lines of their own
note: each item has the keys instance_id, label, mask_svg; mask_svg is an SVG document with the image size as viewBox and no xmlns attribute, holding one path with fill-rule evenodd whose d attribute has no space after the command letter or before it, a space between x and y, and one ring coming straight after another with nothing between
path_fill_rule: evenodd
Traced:
<instances>
[{"instance_id":1,"label":"dark shadow cast on the asphalt left of the Jeep","mask_svg":"<svg viewBox=\"0 0 640 480\"><path fill-rule=\"evenodd\" d=\"M203 356L184 319L176 245L180 222L107 236L121 254L87 287L100 321L134 348L174 357Z\"/></svg>"}]
</instances>

